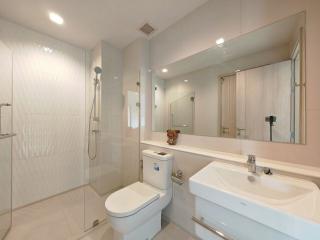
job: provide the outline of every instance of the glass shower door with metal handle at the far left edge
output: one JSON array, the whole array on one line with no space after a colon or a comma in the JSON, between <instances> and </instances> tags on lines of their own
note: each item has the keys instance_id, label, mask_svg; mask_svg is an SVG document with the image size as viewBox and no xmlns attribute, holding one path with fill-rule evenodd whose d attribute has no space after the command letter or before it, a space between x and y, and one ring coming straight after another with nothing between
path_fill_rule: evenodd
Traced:
<instances>
[{"instance_id":1,"label":"glass shower door with metal handle at the far left edge","mask_svg":"<svg viewBox=\"0 0 320 240\"><path fill-rule=\"evenodd\" d=\"M12 54L0 41L0 239L11 227Z\"/></svg>"}]
</instances>

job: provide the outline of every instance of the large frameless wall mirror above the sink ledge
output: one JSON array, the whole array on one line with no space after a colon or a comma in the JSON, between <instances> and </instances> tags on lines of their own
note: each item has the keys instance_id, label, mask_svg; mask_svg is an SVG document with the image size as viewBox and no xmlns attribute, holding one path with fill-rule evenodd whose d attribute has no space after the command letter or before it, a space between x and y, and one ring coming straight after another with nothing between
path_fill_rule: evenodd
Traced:
<instances>
[{"instance_id":1,"label":"large frameless wall mirror above the sink ledge","mask_svg":"<svg viewBox=\"0 0 320 240\"><path fill-rule=\"evenodd\" d=\"M152 128L305 143L305 12L153 69Z\"/></svg>"}]
</instances>

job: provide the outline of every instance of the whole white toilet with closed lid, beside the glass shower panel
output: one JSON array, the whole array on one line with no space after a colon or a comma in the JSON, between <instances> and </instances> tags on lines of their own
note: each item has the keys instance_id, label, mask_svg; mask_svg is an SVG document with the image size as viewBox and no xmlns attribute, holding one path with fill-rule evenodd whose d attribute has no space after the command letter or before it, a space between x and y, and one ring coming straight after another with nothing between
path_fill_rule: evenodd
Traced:
<instances>
[{"instance_id":1,"label":"whole white toilet with closed lid, beside the glass shower panel","mask_svg":"<svg viewBox=\"0 0 320 240\"><path fill-rule=\"evenodd\" d=\"M149 240L161 230L161 211L172 198L172 160L168 153L144 150L143 183L112 193L106 200L114 240Z\"/></svg>"}]
</instances>

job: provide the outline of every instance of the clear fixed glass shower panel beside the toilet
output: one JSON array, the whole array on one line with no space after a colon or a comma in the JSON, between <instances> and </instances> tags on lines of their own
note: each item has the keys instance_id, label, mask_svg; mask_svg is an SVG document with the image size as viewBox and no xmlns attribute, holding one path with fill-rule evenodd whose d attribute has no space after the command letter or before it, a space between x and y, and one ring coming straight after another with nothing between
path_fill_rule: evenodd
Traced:
<instances>
[{"instance_id":1,"label":"clear fixed glass shower panel beside the toilet","mask_svg":"<svg viewBox=\"0 0 320 240\"><path fill-rule=\"evenodd\" d=\"M115 62L105 74L102 67L96 80L94 68L100 64L93 63L87 81L85 230L105 220L104 203L111 193L139 179L139 72L122 80L110 73L118 68Z\"/></svg>"}]
</instances>

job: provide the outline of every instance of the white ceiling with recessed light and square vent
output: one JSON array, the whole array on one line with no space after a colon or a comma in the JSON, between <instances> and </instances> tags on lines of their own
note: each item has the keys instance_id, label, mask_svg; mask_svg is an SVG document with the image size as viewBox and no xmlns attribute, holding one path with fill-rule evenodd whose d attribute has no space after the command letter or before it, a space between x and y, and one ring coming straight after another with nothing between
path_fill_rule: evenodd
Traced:
<instances>
[{"instance_id":1,"label":"white ceiling with recessed light and square vent","mask_svg":"<svg viewBox=\"0 0 320 240\"><path fill-rule=\"evenodd\" d=\"M99 41L123 48L144 36L150 23L157 33L207 0L0 0L0 17L85 48ZM48 12L64 18L58 26ZM152 37L152 36L151 36Z\"/></svg>"}]
</instances>

